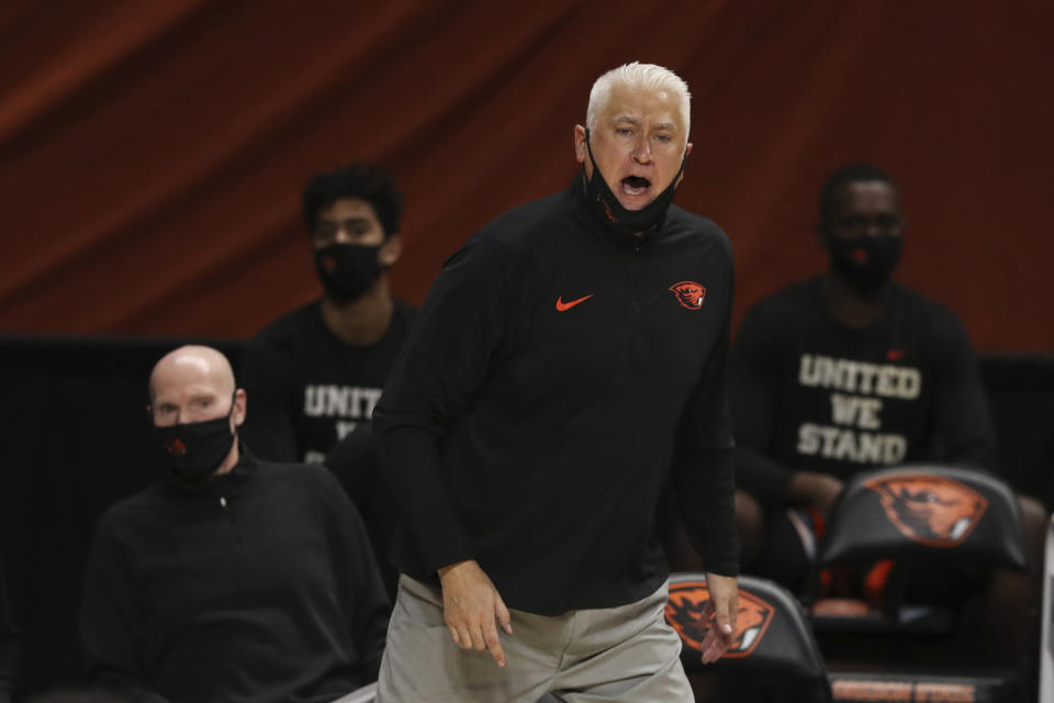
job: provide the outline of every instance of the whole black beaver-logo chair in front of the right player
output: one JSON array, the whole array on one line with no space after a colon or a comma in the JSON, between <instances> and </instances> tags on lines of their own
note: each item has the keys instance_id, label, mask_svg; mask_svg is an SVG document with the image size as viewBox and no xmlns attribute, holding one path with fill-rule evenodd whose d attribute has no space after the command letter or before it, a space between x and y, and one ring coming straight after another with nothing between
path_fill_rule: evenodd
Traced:
<instances>
[{"instance_id":1,"label":"whole black beaver-logo chair in front of the right player","mask_svg":"<svg viewBox=\"0 0 1054 703\"><path fill-rule=\"evenodd\" d=\"M991 569L1028 569L1021 509L1002 480L942 465L859 473L831 512L817 561L810 618L838 700L920 684L1017 700L1020 672L985 667L973 645ZM851 578L859 598L825 596L832 580Z\"/></svg>"}]
</instances>

